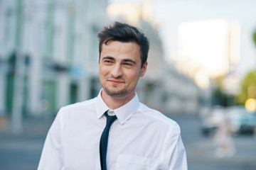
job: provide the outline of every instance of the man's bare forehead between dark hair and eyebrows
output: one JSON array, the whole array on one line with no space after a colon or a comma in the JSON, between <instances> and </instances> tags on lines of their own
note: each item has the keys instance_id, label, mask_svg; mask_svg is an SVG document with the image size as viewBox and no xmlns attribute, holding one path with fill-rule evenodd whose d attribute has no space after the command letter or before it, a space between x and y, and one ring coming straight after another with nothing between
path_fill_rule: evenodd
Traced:
<instances>
[{"instance_id":1,"label":"man's bare forehead between dark hair and eyebrows","mask_svg":"<svg viewBox=\"0 0 256 170\"><path fill-rule=\"evenodd\" d=\"M136 42L110 41L102 44L100 56L140 58L140 47Z\"/></svg>"}]
</instances>

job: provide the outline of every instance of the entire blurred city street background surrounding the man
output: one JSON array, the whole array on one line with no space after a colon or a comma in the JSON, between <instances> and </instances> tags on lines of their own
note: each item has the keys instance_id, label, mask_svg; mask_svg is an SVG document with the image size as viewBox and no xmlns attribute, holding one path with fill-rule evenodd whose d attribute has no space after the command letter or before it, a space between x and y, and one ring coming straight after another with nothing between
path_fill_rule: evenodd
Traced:
<instances>
[{"instance_id":1,"label":"entire blurred city street background surrounding the man","mask_svg":"<svg viewBox=\"0 0 256 170\"><path fill-rule=\"evenodd\" d=\"M256 169L256 1L0 0L0 169L36 169L58 109L97 96L97 33L150 40L142 103L181 127L188 169Z\"/></svg>"}]
</instances>

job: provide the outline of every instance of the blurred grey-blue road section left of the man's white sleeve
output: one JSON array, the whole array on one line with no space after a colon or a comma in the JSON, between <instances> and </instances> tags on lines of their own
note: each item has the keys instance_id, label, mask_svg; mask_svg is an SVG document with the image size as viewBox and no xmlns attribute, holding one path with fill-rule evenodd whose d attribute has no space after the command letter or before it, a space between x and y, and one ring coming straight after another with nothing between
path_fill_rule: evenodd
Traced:
<instances>
[{"instance_id":1,"label":"blurred grey-blue road section left of the man's white sleeve","mask_svg":"<svg viewBox=\"0 0 256 170\"><path fill-rule=\"evenodd\" d=\"M37 169L46 133L53 120L29 120L21 135L0 130L0 169Z\"/></svg>"}]
</instances>

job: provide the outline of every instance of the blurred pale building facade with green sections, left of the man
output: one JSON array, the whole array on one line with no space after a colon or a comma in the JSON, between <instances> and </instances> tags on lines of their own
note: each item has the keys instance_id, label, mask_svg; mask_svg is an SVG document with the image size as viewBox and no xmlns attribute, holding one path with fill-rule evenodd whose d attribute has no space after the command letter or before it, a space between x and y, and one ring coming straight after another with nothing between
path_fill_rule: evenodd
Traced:
<instances>
[{"instance_id":1,"label":"blurred pale building facade with green sections, left of the man","mask_svg":"<svg viewBox=\"0 0 256 170\"><path fill-rule=\"evenodd\" d=\"M0 3L1 115L55 115L95 96L106 1Z\"/></svg>"}]
</instances>

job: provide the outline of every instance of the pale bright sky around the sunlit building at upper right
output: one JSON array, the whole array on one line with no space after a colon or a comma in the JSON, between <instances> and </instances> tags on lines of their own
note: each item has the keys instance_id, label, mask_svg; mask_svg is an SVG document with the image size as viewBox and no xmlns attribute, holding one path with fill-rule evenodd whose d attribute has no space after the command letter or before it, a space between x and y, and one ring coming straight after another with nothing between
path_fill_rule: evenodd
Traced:
<instances>
[{"instance_id":1,"label":"pale bright sky around the sunlit building at upper right","mask_svg":"<svg viewBox=\"0 0 256 170\"><path fill-rule=\"evenodd\" d=\"M110 3L144 3L151 0L110 0ZM158 0L154 1L151 21L158 21L167 58L177 47L177 31L181 23L225 18L241 26L241 58L237 72L241 76L256 68L256 45L252 33L256 30L255 0Z\"/></svg>"}]
</instances>

